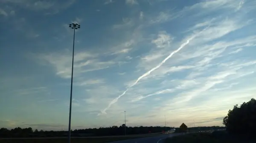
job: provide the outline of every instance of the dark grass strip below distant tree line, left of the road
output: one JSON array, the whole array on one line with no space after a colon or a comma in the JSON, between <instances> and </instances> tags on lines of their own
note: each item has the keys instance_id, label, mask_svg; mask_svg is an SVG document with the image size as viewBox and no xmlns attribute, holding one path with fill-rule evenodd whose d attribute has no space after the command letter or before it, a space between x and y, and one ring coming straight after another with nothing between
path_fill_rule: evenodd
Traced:
<instances>
[{"instance_id":1,"label":"dark grass strip below distant tree line, left of the road","mask_svg":"<svg viewBox=\"0 0 256 143\"><path fill-rule=\"evenodd\" d=\"M133 138L139 137L71 138L71 143L106 143ZM0 139L0 143L67 143L67 139Z\"/></svg>"}]
</instances>

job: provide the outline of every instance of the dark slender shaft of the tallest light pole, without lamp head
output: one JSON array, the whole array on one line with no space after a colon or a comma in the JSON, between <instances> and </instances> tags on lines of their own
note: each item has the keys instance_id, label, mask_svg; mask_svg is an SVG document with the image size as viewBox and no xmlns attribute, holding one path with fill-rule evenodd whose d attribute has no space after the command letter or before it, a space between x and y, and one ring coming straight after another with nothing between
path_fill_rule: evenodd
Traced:
<instances>
[{"instance_id":1,"label":"dark slender shaft of the tallest light pole, without lamp head","mask_svg":"<svg viewBox=\"0 0 256 143\"><path fill-rule=\"evenodd\" d=\"M71 106L72 106L72 87L73 87L73 65L74 65L74 46L75 46L75 29L74 28L74 39L73 39L73 56L72 56L72 71L71 71L71 87L70 87L70 114L68 123L68 143L70 143L71 138Z\"/></svg>"}]
</instances>

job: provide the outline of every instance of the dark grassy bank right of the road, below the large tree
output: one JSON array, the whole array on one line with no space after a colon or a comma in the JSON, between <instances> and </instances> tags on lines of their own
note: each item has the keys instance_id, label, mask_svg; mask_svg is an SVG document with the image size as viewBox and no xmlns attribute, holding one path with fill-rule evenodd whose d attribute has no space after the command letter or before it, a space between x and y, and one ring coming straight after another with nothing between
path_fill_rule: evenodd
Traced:
<instances>
[{"instance_id":1,"label":"dark grassy bank right of the road, below the large tree","mask_svg":"<svg viewBox=\"0 0 256 143\"><path fill-rule=\"evenodd\" d=\"M167 138L165 143L256 143L255 140L231 137L224 132L192 133Z\"/></svg>"}]
</instances>

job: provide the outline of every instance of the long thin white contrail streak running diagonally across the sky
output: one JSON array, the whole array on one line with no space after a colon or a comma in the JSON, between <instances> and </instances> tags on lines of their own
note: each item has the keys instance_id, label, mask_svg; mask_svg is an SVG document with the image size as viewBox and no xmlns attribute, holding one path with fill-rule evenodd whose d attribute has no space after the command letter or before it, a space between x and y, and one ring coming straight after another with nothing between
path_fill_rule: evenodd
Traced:
<instances>
[{"instance_id":1,"label":"long thin white contrail streak running diagonally across the sky","mask_svg":"<svg viewBox=\"0 0 256 143\"><path fill-rule=\"evenodd\" d=\"M209 26L208 26L209 27ZM208 28L207 27L207 28ZM207 29L207 28L204 28ZM198 34L200 34L201 32L203 32L204 30L198 32ZM112 104L116 103L118 101L118 99L120 97L122 97L123 95L125 95L125 93L134 85L136 85L141 79L143 79L145 76L148 76L152 71L158 69L159 67L161 67L168 59L170 59L175 53L177 53L178 51L180 51L183 47L185 47L186 45L189 44L189 42L195 38L195 36L197 36L198 34L195 34L194 36L190 37L185 43L181 44L180 47L177 50L174 50L169 56L167 56L162 62L160 62L160 64L158 64L156 67L153 67L151 70L149 70L148 72L144 73L142 76L140 76L137 81L134 82L134 84L132 84L131 86L129 86L121 95L119 95L118 97L116 97L115 99L113 99L110 104L108 104L108 107L105 108L102 113L106 113L106 110L108 110ZM98 114L99 115L99 114Z\"/></svg>"}]
</instances>

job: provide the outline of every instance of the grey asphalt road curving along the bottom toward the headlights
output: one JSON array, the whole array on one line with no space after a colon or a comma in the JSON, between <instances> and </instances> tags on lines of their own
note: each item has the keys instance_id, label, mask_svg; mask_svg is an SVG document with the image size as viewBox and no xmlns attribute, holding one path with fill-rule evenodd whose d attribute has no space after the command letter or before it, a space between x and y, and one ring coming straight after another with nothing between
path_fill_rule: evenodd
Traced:
<instances>
[{"instance_id":1,"label":"grey asphalt road curving along the bottom toward the headlights","mask_svg":"<svg viewBox=\"0 0 256 143\"><path fill-rule=\"evenodd\" d=\"M164 135L155 136L155 137L143 137L143 138L137 138L137 139L131 139L131 140L120 140L120 141L115 141L111 143L163 143L163 140L166 139L167 137L173 137L176 135L181 135L181 134L164 134Z\"/></svg>"}]
</instances>

